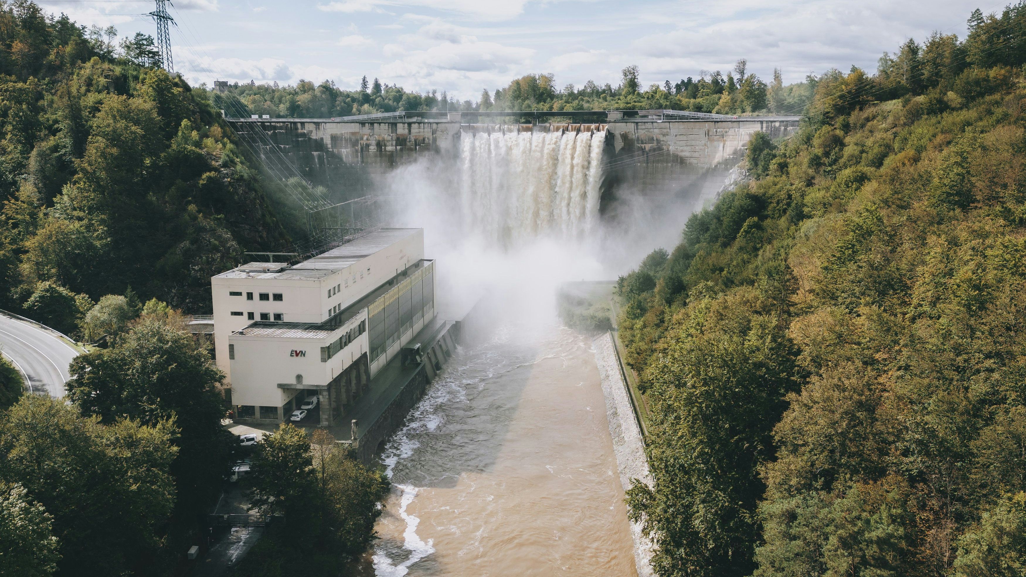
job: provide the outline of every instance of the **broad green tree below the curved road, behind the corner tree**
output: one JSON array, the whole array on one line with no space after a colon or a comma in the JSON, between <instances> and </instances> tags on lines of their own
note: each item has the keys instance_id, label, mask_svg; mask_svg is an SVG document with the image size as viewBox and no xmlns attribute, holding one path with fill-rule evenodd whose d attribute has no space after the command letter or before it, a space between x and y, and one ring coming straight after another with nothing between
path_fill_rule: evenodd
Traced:
<instances>
[{"instance_id":1,"label":"broad green tree below the curved road, behind the corner tree","mask_svg":"<svg viewBox=\"0 0 1026 577\"><path fill-rule=\"evenodd\" d=\"M0 482L52 516L61 573L106 577L159 567L174 503L173 427L103 425L65 401L25 396L0 420Z\"/></svg>"}]
</instances>

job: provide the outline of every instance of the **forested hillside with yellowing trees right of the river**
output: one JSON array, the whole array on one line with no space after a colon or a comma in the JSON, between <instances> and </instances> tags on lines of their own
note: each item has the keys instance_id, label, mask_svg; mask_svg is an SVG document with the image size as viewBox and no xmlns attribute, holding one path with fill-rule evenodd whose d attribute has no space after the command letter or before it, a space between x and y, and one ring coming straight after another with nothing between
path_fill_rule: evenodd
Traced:
<instances>
[{"instance_id":1,"label":"forested hillside with yellowing trees right of the river","mask_svg":"<svg viewBox=\"0 0 1026 577\"><path fill-rule=\"evenodd\" d=\"M821 77L621 279L664 576L1026 574L1026 7Z\"/></svg>"}]
</instances>

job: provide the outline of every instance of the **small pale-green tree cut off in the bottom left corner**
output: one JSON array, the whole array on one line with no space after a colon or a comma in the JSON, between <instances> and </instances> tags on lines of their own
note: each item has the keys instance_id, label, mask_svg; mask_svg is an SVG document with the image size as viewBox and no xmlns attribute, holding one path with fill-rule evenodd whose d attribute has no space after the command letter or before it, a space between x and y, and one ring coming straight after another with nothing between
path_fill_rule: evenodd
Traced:
<instances>
[{"instance_id":1,"label":"small pale-green tree cut off in the bottom left corner","mask_svg":"<svg viewBox=\"0 0 1026 577\"><path fill-rule=\"evenodd\" d=\"M0 483L0 572L18 577L52 575L61 559L53 518L18 484Z\"/></svg>"}]
</instances>

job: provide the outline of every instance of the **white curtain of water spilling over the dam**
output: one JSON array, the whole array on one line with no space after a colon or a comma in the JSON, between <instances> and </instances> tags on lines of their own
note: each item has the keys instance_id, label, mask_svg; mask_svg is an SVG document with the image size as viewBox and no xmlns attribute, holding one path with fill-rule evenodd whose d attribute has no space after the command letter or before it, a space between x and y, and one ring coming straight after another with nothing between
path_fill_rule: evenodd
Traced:
<instances>
[{"instance_id":1,"label":"white curtain of water spilling over the dam","mask_svg":"<svg viewBox=\"0 0 1026 577\"><path fill-rule=\"evenodd\" d=\"M605 130L464 132L464 224L501 245L588 236L598 223Z\"/></svg>"}]
</instances>

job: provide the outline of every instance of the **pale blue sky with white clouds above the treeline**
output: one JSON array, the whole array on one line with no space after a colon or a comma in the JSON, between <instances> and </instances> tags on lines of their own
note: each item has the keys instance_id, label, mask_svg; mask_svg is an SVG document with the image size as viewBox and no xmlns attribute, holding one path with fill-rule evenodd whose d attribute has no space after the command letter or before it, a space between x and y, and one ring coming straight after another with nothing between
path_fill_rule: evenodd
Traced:
<instances>
[{"instance_id":1,"label":"pale blue sky with white clouds above the treeline","mask_svg":"<svg viewBox=\"0 0 1026 577\"><path fill-rule=\"evenodd\" d=\"M331 80L354 89L365 75L407 90L445 90L477 100L530 73L560 88L588 80L616 86L636 65L641 84L725 74L739 58L784 82L858 66L875 71L884 51L931 32L965 35L974 8L959 0L172 0L174 68L191 83L294 84ZM153 1L37 2L121 37L156 35L141 14Z\"/></svg>"}]
</instances>

